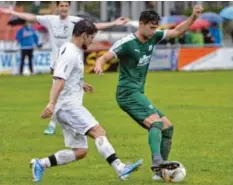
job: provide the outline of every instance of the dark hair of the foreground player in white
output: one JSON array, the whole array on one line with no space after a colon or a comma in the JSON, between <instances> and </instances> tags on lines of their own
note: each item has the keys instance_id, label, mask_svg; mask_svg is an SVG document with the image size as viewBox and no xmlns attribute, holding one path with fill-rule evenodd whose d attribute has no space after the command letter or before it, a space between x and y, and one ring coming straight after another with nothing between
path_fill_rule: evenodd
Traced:
<instances>
[{"instance_id":1,"label":"dark hair of the foreground player in white","mask_svg":"<svg viewBox=\"0 0 233 185\"><path fill-rule=\"evenodd\" d=\"M83 19L77 22L73 29L73 36L78 37L82 33L86 33L87 35L92 35L97 32L97 28L93 22Z\"/></svg>"}]
</instances>

